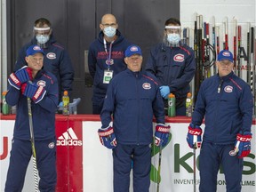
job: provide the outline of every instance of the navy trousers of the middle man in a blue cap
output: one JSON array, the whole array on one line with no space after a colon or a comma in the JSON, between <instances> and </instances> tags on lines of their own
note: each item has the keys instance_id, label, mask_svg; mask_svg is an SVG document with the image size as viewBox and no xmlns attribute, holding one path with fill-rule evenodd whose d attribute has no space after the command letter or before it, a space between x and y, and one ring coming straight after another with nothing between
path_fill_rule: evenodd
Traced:
<instances>
[{"instance_id":1,"label":"navy trousers of the middle man in a blue cap","mask_svg":"<svg viewBox=\"0 0 256 192\"><path fill-rule=\"evenodd\" d=\"M149 145L117 144L113 149L114 192L129 192L133 171L133 192L148 192L150 186L151 148Z\"/></svg>"}]
</instances>

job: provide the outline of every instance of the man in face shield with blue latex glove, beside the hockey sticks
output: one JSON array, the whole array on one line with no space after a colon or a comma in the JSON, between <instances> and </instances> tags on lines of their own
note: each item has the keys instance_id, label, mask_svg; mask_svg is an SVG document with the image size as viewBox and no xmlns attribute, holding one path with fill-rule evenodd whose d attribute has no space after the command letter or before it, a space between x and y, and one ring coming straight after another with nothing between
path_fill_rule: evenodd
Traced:
<instances>
[{"instance_id":1,"label":"man in face shield with blue latex glove, beside the hockey sticks","mask_svg":"<svg viewBox=\"0 0 256 192\"><path fill-rule=\"evenodd\" d=\"M189 83L195 75L196 60L194 51L180 41L180 20L170 18L164 24L164 42L154 46L146 63L146 70L154 74L161 86L167 115L168 95L176 97L176 115L186 115L186 98L190 91Z\"/></svg>"}]
</instances>

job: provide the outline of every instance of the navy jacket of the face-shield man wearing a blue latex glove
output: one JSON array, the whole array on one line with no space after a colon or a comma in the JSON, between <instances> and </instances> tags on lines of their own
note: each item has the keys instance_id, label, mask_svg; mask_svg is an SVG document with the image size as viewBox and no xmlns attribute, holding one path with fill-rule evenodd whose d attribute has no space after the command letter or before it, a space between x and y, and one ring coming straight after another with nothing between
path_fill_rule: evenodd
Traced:
<instances>
[{"instance_id":1,"label":"navy jacket of the face-shield man wearing a blue latex glove","mask_svg":"<svg viewBox=\"0 0 256 192\"><path fill-rule=\"evenodd\" d=\"M151 48L145 69L156 76L160 86L168 85L176 98L185 98L196 72L195 53L187 44L157 44Z\"/></svg>"}]
</instances>

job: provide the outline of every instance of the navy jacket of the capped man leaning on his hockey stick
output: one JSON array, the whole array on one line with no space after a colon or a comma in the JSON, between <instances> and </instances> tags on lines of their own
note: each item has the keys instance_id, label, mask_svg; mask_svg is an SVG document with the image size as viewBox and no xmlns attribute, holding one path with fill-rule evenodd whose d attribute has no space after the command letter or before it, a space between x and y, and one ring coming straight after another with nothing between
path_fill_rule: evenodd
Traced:
<instances>
[{"instance_id":1,"label":"navy jacket of the capped man leaning on his hockey stick","mask_svg":"<svg viewBox=\"0 0 256 192\"><path fill-rule=\"evenodd\" d=\"M57 79L52 73L42 69L37 72L32 82L44 86L46 91L43 100L38 103L31 100L35 140L48 140L55 137L55 112L59 100ZM30 140L27 97L9 84L6 102L10 106L17 105L13 138Z\"/></svg>"}]
</instances>

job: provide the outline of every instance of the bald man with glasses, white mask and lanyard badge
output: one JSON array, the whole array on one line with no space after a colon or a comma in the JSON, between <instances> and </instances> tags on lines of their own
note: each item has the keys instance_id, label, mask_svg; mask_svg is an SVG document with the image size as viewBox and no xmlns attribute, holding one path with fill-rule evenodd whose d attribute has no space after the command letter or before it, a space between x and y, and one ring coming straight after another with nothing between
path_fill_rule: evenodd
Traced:
<instances>
[{"instance_id":1,"label":"bald man with glasses, white mask and lanyard badge","mask_svg":"<svg viewBox=\"0 0 256 192\"><path fill-rule=\"evenodd\" d=\"M93 114L100 114L112 77L126 69L124 52L131 44L117 28L118 24L113 14L103 15L100 35L89 48L88 67L93 78Z\"/></svg>"}]
</instances>

